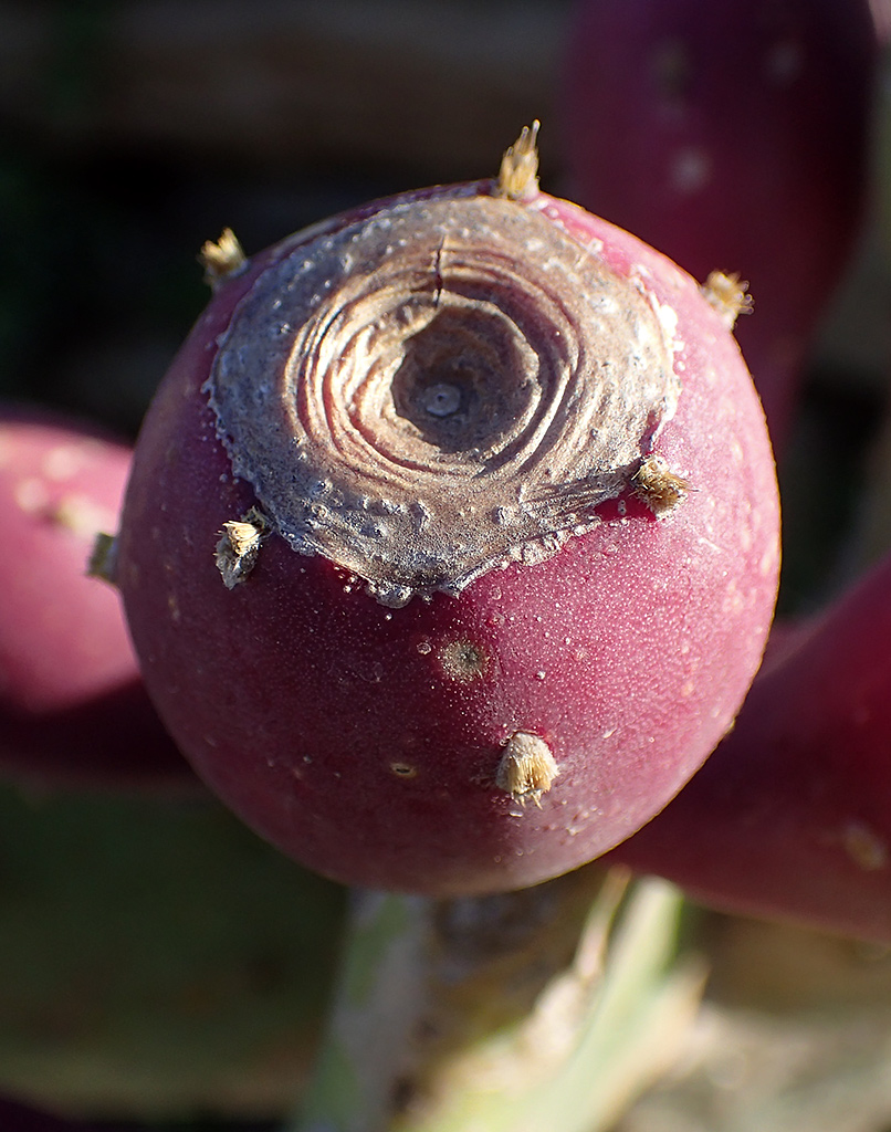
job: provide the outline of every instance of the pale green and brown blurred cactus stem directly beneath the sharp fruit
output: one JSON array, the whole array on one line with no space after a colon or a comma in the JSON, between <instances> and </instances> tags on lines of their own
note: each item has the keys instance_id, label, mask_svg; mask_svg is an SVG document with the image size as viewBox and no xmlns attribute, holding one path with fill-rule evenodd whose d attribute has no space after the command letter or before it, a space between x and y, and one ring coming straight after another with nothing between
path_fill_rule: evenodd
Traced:
<instances>
[{"instance_id":1,"label":"pale green and brown blurred cactus stem directly beneath the sharp fruit","mask_svg":"<svg viewBox=\"0 0 891 1132\"><path fill-rule=\"evenodd\" d=\"M354 893L327 1035L284 1132L608 1127L699 1002L682 906L599 866L485 898Z\"/></svg>"}]
</instances>

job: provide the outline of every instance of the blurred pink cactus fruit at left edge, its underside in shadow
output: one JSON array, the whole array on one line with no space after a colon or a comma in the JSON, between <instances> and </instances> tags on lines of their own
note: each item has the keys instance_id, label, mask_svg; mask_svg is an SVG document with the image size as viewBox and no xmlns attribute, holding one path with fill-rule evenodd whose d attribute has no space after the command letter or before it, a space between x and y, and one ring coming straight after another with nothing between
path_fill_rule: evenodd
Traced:
<instances>
[{"instance_id":1,"label":"blurred pink cactus fruit at left edge, its underside in shadow","mask_svg":"<svg viewBox=\"0 0 891 1132\"><path fill-rule=\"evenodd\" d=\"M0 410L0 774L42 786L197 786L145 694L111 586L130 449L45 410Z\"/></svg>"}]
</instances>

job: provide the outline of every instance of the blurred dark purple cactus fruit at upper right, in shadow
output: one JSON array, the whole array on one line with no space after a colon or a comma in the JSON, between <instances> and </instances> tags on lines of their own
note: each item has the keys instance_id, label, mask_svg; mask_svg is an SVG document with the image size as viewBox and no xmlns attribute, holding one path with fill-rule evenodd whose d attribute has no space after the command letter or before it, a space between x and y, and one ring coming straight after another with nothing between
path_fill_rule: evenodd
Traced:
<instances>
[{"instance_id":1,"label":"blurred dark purple cactus fruit at upper right, in shadow","mask_svg":"<svg viewBox=\"0 0 891 1132\"><path fill-rule=\"evenodd\" d=\"M774 447L866 200L866 0L584 0L560 102L575 199L696 278L738 272Z\"/></svg>"}]
</instances>

